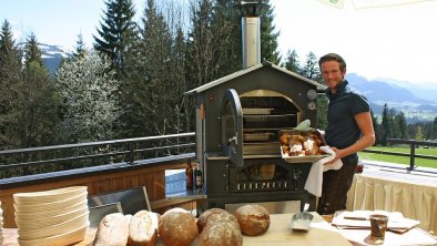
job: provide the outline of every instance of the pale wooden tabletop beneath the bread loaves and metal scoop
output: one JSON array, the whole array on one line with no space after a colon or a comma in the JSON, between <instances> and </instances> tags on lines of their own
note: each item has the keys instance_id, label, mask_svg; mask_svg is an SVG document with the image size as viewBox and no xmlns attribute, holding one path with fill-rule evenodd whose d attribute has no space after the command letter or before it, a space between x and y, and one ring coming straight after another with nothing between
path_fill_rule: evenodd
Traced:
<instances>
[{"instance_id":1,"label":"pale wooden tabletop beneath the bread loaves and metal scoop","mask_svg":"<svg viewBox=\"0 0 437 246\"><path fill-rule=\"evenodd\" d=\"M318 214L314 215L313 223L308 232L293 232L289 228L289 222L293 214L272 214L271 226L268 230L261 236L244 236L244 246L251 245L352 245L343 237L338 230L332 227L326 221L324 221ZM17 228L6 228L3 245L16 246L17 243ZM83 242L75 244L75 246L91 246L94 240L95 228L91 228L87 233L87 237ZM161 239L157 240L156 245L164 245ZM197 240L193 243L193 246L200 245Z\"/></svg>"}]
</instances>

